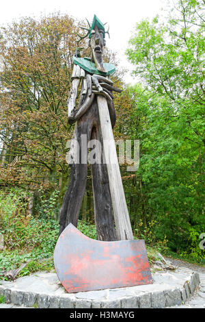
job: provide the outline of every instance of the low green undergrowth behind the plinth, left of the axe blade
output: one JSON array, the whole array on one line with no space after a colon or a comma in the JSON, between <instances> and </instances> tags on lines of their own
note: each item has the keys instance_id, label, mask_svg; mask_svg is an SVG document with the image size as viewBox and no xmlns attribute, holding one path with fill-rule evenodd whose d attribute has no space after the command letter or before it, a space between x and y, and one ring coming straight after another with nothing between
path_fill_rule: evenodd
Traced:
<instances>
[{"instance_id":1,"label":"low green undergrowth behind the plinth, left of the axe blade","mask_svg":"<svg viewBox=\"0 0 205 322\"><path fill-rule=\"evenodd\" d=\"M58 191L44 203L38 217L27 215L27 193L21 189L0 190L1 233L4 236L4 248L0 251L0 271L9 271L30 262L20 272L20 276L35 271L51 271L53 251L59 234L59 223L53 219ZM46 205L46 206L45 206ZM51 210L45 212L44 210ZM46 214L44 216L44 214ZM79 230L86 236L96 239L96 227L85 221L79 221ZM0 278L2 278L0 276Z\"/></svg>"}]
</instances>

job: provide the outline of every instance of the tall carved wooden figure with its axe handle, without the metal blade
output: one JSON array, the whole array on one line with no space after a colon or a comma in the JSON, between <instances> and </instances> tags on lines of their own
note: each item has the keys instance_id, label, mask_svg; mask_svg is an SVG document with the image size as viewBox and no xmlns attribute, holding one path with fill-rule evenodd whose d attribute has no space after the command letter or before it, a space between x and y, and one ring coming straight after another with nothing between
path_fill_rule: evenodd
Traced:
<instances>
[{"instance_id":1,"label":"tall carved wooden figure with its axe handle, without the metal blade","mask_svg":"<svg viewBox=\"0 0 205 322\"><path fill-rule=\"evenodd\" d=\"M126 240L133 239L133 233L112 132L116 120L112 92L121 90L113 87L109 79L115 71L115 66L102 60L105 33L104 25L94 15L92 26L89 25L87 34L81 37L90 38L91 58L81 58L78 50L73 57L68 122L76 122L73 142L78 144L73 143L70 147L70 185L59 214L59 234L69 223L77 227L87 181L87 149L83 149L83 145L86 147L90 140L95 139L103 147L101 162L92 164L94 216L98 240ZM77 91L80 84L81 94L77 107ZM107 142L109 147L106 146Z\"/></svg>"}]
</instances>

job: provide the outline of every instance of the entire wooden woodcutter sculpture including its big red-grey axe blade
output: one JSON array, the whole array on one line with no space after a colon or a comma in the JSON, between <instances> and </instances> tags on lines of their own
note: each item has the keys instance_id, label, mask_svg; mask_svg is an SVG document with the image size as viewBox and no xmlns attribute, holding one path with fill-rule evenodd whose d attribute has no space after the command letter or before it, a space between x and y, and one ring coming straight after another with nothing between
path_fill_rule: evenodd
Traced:
<instances>
[{"instance_id":1,"label":"entire wooden woodcutter sculpture including its big red-grey axe blade","mask_svg":"<svg viewBox=\"0 0 205 322\"><path fill-rule=\"evenodd\" d=\"M112 131L115 125L112 91L119 90L109 79L115 66L102 61L105 27L96 16L88 34L91 58L81 58L78 51L73 58L68 99L68 121L76 122L68 156L71 177L60 210L60 234L53 255L55 271L68 293L153 283L144 241L133 240ZM98 156L92 163L98 240L88 238L76 228L85 192L90 139L103 147L103 152L96 150Z\"/></svg>"}]
</instances>

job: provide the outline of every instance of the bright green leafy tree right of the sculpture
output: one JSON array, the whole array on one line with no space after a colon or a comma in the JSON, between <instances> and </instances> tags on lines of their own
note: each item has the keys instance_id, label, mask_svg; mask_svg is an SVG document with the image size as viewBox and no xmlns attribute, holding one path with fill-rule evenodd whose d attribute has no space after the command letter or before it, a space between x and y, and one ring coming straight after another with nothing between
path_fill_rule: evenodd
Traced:
<instances>
[{"instance_id":1,"label":"bright green leafy tree right of the sculpture","mask_svg":"<svg viewBox=\"0 0 205 322\"><path fill-rule=\"evenodd\" d=\"M180 0L167 23L141 21L126 52L144 88L131 88L144 216L157 220L156 234L175 251L191 252L193 232L205 230L203 4Z\"/></svg>"}]
</instances>

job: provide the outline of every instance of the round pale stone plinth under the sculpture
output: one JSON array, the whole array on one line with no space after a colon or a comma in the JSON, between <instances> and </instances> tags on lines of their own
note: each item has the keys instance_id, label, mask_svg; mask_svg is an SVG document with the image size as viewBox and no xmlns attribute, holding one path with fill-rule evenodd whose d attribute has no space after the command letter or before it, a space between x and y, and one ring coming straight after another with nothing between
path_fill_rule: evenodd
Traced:
<instances>
[{"instance_id":1,"label":"round pale stone plinth under the sculpture","mask_svg":"<svg viewBox=\"0 0 205 322\"><path fill-rule=\"evenodd\" d=\"M14 282L0 281L0 295L5 297L3 306L27 308L165 308L192 299L200 284L199 273L182 267L152 277L154 283L149 285L68 294L55 273L40 272Z\"/></svg>"}]
</instances>

